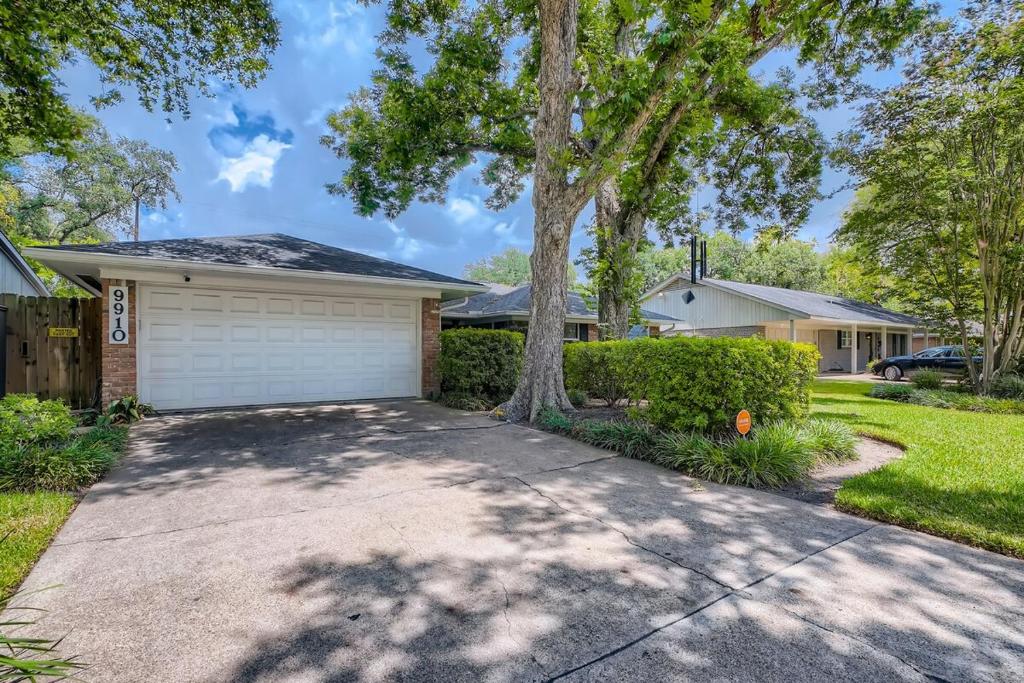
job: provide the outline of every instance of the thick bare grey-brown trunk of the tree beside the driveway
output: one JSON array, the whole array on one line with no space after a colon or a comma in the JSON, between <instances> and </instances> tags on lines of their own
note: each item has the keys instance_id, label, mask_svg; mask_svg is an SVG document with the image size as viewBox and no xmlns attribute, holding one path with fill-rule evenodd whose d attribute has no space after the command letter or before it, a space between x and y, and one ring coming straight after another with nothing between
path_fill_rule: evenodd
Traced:
<instances>
[{"instance_id":1,"label":"thick bare grey-brown trunk of the tree beside the driveway","mask_svg":"<svg viewBox=\"0 0 1024 683\"><path fill-rule=\"evenodd\" d=\"M515 393L495 413L532 420L545 405L571 411L562 378L562 337L569 236L580 209L571 200L568 169L579 0L541 0L540 108L534 125L534 285L522 376Z\"/></svg>"}]
</instances>

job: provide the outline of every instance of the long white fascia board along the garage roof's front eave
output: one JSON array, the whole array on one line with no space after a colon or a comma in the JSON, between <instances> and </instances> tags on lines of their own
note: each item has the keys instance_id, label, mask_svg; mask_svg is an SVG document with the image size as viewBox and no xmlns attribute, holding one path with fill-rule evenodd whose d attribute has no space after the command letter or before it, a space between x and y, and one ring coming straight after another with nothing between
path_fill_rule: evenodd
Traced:
<instances>
[{"instance_id":1,"label":"long white fascia board along the garage roof's front eave","mask_svg":"<svg viewBox=\"0 0 1024 683\"><path fill-rule=\"evenodd\" d=\"M377 275L357 275L342 272L319 272L316 270L294 270L291 268L273 268L263 265L230 265L223 263L200 263L191 261L175 261L172 259L152 258L146 256L120 256L115 254L95 254L89 252L56 251L51 249L27 249L32 258L47 265L60 263L85 262L104 270L172 270L178 273L188 271L213 272L225 274L241 274L255 276L296 278L302 280L321 280L343 282L360 285L387 285L403 288L431 288L449 293L486 292L484 285L458 285L455 283L432 282L426 280L404 280L401 278L382 278Z\"/></svg>"}]
</instances>

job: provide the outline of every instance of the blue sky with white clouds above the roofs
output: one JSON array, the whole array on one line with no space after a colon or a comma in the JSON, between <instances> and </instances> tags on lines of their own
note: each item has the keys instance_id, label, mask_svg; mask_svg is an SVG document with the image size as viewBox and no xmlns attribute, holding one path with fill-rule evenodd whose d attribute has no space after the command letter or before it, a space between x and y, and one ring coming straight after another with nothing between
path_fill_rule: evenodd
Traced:
<instances>
[{"instance_id":1,"label":"blue sky with white clouds above the roofs","mask_svg":"<svg viewBox=\"0 0 1024 683\"><path fill-rule=\"evenodd\" d=\"M142 138L177 156L181 202L147 212L143 240L287 232L450 274L507 246L529 250L528 193L506 210L489 211L474 169L456 179L445 205L416 205L393 222L356 216L347 199L328 195L325 183L336 180L343 166L319 144L324 119L369 83L381 8L352 0L282 0L275 10L282 43L257 87L196 96L190 118L170 122L160 112L146 113L130 92L122 104L96 113L112 134ZM791 61L790 55L773 55L758 70L771 74ZM83 108L100 91L89 65L73 68L65 80ZM849 127L851 117L846 109L816 115L826 133ZM829 172L823 189L843 182ZM849 199L842 193L821 202L802 237L826 242ZM582 220L587 218L589 212ZM573 257L587 244L581 225L572 238Z\"/></svg>"}]
</instances>

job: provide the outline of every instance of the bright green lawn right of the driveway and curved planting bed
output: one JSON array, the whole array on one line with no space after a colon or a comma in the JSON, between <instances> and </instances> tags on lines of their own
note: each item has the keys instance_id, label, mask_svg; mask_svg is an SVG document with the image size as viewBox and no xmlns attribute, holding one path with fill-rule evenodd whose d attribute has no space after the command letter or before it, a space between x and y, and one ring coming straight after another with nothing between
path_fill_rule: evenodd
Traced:
<instances>
[{"instance_id":1,"label":"bright green lawn right of the driveway and curved planting bed","mask_svg":"<svg viewBox=\"0 0 1024 683\"><path fill-rule=\"evenodd\" d=\"M906 449L903 458L848 480L836 505L1024 557L1024 416L896 403L868 397L870 387L814 383L815 414Z\"/></svg>"}]
</instances>

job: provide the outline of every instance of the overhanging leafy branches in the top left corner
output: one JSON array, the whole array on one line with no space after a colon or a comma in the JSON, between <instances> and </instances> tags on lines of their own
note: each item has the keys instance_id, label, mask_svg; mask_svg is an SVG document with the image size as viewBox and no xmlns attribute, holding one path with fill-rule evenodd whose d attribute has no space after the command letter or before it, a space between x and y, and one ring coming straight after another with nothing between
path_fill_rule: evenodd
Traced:
<instances>
[{"instance_id":1,"label":"overhanging leafy branches in the top left corner","mask_svg":"<svg viewBox=\"0 0 1024 683\"><path fill-rule=\"evenodd\" d=\"M0 157L18 138L67 154L88 122L61 92L60 70L92 62L96 105L138 93L147 111L188 114L194 91L254 85L279 26L269 0L12 0L0 4Z\"/></svg>"}]
</instances>

